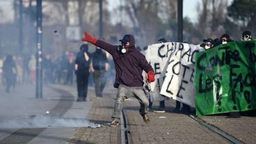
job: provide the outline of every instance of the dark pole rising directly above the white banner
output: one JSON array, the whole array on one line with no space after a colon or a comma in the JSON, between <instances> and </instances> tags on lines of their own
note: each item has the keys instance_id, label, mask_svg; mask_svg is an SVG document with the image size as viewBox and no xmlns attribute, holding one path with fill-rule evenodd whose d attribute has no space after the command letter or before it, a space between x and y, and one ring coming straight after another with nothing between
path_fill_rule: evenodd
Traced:
<instances>
[{"instance_id":1,"label":"dark pole rising directly above the white banner","mask_svg":"<svg viewBox=\"0 0 256 144\"><path fill-rule=\"evenodd\" d=\"M178 42L183 42L183 0L178 0Z\"/></svg>"}]
</instances>

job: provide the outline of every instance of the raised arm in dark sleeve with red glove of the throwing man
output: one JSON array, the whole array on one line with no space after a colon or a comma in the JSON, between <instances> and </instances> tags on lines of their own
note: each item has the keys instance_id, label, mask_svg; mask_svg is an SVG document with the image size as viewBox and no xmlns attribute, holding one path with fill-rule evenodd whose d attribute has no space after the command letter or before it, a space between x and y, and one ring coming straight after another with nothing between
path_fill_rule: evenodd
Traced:
<instances>
[{"instance_id":1,"label":"raised arm in dark sleeve with red glove of the throwing man","mask_svg":"<svg viewBox=\"0 0 256 144\"><path fill-rule=\"evenodd\" d=\"M100 47L100 48L106 50L111 55L116 51L116 48L118 47L115 45L111 45L107 42L104 42L102 40L98 40L97 38L93 38L93 36L91 36L87 32L85 32L84 35L85 35L85 38L82 38L82 41L90 42L91 44L96 45L97 47Z\"/></svg>"}]
</instances>

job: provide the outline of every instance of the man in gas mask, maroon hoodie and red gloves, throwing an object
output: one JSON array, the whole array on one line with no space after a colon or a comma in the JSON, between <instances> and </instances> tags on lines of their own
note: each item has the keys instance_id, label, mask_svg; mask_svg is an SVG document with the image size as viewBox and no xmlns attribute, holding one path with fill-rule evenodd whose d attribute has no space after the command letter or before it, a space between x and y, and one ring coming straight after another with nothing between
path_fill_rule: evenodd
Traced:
<instances>
[{"instance_id":1,"label":"man in gas mask, maroon hoodie and red gloves, throwing an object","mask_svg":"<svg viewBox=\"0 0 256 144\"><path fill-rule=\"evenodd\" d=\"M147 62L145 56L135 47L135 39L132 35L125 35L121 45L111 45L102 40L93 38L85 33L83 41L87 41L108 51L114 59L115 63L115 84L118 88L117 97L115 99L115 108L112 115L111 127L119 125L124 99L135 97L140 102L140 114L145 123L149 123L150 119L147 114L149 101L147 99L144 87L142 72L147 72L148 82L155 81L154 72L151 65Z\"/></svg>"}]
</instances>

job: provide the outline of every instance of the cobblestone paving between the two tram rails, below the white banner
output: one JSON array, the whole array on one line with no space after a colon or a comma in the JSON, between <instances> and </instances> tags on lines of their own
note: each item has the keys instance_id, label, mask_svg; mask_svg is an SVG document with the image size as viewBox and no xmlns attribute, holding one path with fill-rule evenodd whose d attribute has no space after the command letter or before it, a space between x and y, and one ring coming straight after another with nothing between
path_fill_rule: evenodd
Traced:
<instances>
[{"instance_id":1,"label":"cobblestone paving between the two tram rails, below the white banner","mask_svg":"<svg viewBox=\"0 0 256 144\"><path fill-rule=\"evenodd\" d=\"M155 102L154 104L159 104ZM149 112L150 124L139 114L139 103L132 99L125 103L132 143L228 143L225 139L199 125L184 114Z\"/></svg>"}]
</instances>

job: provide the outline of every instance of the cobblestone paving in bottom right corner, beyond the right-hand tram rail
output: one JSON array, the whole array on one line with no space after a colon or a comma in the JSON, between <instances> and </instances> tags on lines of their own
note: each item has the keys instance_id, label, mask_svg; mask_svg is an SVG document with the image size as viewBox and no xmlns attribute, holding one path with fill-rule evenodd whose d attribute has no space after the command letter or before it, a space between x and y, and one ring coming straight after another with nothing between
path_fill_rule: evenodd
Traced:
<instances>
[{"instance_id":1,"label":"cobblestone paving in bottom right corner, beyond the right-hand tram rail","mask_svg":"<svg viewBox=\"0 0 256 144\"><path fill-rule=\"evenodd\" d=\"M255 117L227 118L227 116L200 116L199 118L244 143L256 143Z\"/></svg>"}]
</instances>

